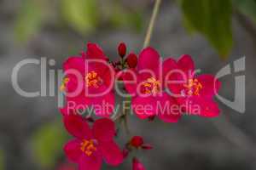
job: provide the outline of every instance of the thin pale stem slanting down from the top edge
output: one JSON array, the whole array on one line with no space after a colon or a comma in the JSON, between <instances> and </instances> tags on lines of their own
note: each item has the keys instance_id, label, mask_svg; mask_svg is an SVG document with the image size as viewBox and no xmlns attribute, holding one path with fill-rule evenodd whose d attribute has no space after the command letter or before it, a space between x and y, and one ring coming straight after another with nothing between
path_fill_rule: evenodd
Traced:
<instances>
[{"instance_id":1,"label":"thin pale stem slanting down from the top edge","mask_svg":"<svg viewBox=\"0 0 256 170\"><path fill-rule=\"evenodd\" d=\"M146 48L149 45L149 42L150 42L150 39L152 36L152 32L154 29L154 23L155 23L157 14L159 13L160 3L161 3L161 0L155 0L153 14L151 15L151 19L150 19L150 22L148 25L148 31L147 31L147 34L145 37L143 48Z\"/></svg>"}]
</instances>

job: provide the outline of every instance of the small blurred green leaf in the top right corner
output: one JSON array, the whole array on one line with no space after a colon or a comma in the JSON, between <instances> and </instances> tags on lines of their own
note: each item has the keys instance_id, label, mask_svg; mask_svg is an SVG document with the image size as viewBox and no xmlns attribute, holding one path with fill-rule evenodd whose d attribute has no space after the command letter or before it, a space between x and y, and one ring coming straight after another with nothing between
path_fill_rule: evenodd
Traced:
<instances>
[{"instance_id":1,"label":"small blurred green leaf in the top right corner","mask_svg":"<svg viewBox=\"0 0 256 170\"><path fill-rule=\"evenodd\" d=\"M238 8L241 13L251 17L256 23L256 1L255 0L233 0L234 6Z\"/></svg>"}]
</instances>

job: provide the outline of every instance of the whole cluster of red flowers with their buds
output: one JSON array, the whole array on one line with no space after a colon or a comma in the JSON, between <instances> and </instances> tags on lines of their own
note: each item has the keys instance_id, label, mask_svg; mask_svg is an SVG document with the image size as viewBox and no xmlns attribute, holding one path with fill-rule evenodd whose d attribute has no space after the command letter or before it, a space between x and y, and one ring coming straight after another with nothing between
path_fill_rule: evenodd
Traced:
<instances>
[{"instance_id":1,"label":"whole cluster of red flowers with their buds","mask_svg":"<svg viewBox=\"0 0 256 170\"><path fill-rule=\"evenodd\" d=\"M152 121L157 116L163 122L178 122L183 115L219 114L213 97L220 82L209 74L198 75L189 55L163 60L150 47L138 55L127 54L125 43L119 44L118 54L118 60L110 61L102 48L89 42L86 52L69 57L63 64L60 90L66 105L60 111L67 132L75 138L64 150L80 170L101 169L102 160L116 167L133 150L153 148L140 136L128 140L123 149L114 141L119 136L115 123L125 121L127 110L140 119ZM125 90L119 89L119 83ZM119 110L118 95L130 104L128 109L125 103ZM85 112L89 115L84 116ZM133 157L132 169L145 167Z\"/></svg>"}]
</instances>

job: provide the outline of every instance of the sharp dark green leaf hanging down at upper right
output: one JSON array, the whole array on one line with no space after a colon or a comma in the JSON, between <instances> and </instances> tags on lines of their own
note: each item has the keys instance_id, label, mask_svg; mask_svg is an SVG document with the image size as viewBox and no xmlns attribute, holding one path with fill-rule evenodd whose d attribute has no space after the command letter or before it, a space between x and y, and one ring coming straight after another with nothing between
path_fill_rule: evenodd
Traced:
<instances>
[{"instance_id":1,"label":"sharp dark green leaf hanging down at upper right","mask_svg":"<svg viewBox=\"0 0 256 170\"><path fill-rule=\"evenodd\" d=\"M230 0L180 0L185 26L207 37L222 58L233 46Z\"/></svg>"}]
</instances>

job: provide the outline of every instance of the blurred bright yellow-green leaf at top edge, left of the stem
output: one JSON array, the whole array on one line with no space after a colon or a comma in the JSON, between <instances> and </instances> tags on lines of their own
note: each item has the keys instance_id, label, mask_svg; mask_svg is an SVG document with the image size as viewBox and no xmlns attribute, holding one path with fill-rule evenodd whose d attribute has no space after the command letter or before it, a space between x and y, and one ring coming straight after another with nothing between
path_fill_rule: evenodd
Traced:
<instances>
[{"instance_id":1,"label":"blurred bright yellow-green leaf at top edge, left of the stem","mask_svg":"<svg viewBox=\"0 0 256 170\"><path fill-rule=\"evenodd\" d=\"M99 18L95 0L61 0L61 14L74 30L83 35L95 29Z\"/></svg>"}]
</instances>

